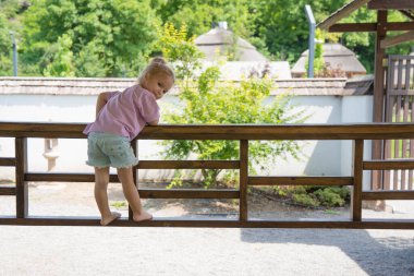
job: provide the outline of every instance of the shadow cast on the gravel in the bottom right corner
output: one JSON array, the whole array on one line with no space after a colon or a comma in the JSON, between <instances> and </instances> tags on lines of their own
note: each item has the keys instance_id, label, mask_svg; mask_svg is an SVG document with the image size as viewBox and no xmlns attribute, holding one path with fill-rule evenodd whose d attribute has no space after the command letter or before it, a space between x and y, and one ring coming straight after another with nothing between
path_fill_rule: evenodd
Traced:
<instances>
[{"instance_id":1,"label":"shadow cast on the gravel in the bottom right corner","mask_svg":"<svg viewBox=\"0 0 414 276\"><path fill-rule=\"evenodd\" d=\"M414 275L414 235L387 230L241 229L241 239L253 243L336 247L368 275ZM400 230L394 230L400 231ZM373 236L375 237L373 237ZM283 254L283 252L280 252ZM327 264L332 260L325 260Z\"/></svg>"}]
</instances>

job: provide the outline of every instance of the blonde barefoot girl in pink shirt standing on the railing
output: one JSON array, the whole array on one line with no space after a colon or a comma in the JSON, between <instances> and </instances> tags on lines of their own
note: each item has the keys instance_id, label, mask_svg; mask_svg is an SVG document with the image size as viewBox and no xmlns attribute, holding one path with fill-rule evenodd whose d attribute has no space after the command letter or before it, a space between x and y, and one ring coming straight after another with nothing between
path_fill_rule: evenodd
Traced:
<instances>
[{"instance_id":1,"label":"blonde barefoot girl in pink shirt standing on the railing","mask_svg":"<svg viewBox=\"0 0 414 276\"><path fill-rule=\"evenodd\" d=\"M95 168L95 200L102 226L109 225L121 214L111 212L108 202L109 167L117 168L122 190L133 212L133 220L153 219L141 203L133 179L133 168L138 159L131 141L146 125L157 125L159 107L157 100L172 87L175 76L162 58L154 58L141 73L138 83L124 92L99 94L96 120L87 124L87 165Z\"/></svg>"}]
</instances>

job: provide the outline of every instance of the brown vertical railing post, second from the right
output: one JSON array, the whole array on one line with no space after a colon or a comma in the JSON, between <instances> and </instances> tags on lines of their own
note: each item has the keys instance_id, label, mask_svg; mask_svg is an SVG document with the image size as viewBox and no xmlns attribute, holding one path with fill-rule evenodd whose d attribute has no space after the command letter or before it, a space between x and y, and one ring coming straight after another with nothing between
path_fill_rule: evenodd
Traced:
<instances>
[{"instance_id":1,"label":"brown vertical railing post, second from the right","mask_svg":"<svg viewBox=\"0 0 414 276\"><path fill-rule=\"evenodd\" d=\"M247 220L248 141L240 141L240 217Z\"/></svg>"}]
</instances>

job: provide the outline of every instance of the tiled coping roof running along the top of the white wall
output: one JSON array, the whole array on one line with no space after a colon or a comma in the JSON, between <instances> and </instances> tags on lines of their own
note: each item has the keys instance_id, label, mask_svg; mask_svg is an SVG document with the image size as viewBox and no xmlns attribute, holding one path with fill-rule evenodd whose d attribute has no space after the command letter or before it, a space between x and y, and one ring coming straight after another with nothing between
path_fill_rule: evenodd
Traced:
<instances>
[{"instance_id":1,"label":"tiled coping roof running along the top of the white wall","mask_svg":"<svg viewBox=\"0 0 414 276\"><path fill-rule=\"evenodd\" d=\"M123 91L134 85L135 79L76 77L0 77L0 95L64 95L96 96L107 91ZM275 80L276 94L295 96L372 95L373 76L363 79L291 79ZM171 92L178 94L178 87Z\"/></svg>"}]
</instances>

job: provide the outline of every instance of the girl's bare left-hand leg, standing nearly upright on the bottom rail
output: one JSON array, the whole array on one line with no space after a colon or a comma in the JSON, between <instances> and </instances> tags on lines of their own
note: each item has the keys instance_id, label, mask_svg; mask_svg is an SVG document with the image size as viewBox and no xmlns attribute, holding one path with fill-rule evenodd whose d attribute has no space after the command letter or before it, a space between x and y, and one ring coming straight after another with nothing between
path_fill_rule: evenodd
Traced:
<instances>
[{"instance_id":1,"label":"girl's bare left-hand leg, standing nearly upright on the bottom rail","mask_svg":"<svg viewBox=\"0 0 414 276\"><path fill-rule=\"evenodd\" d=\"M109 168L95 168L95 200L102 219L101 225L109 225L121 216L120 213L111 212L108 201Z\"/></svg>"}]
</instances>

